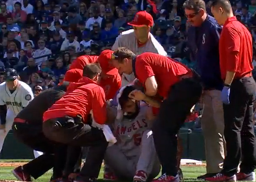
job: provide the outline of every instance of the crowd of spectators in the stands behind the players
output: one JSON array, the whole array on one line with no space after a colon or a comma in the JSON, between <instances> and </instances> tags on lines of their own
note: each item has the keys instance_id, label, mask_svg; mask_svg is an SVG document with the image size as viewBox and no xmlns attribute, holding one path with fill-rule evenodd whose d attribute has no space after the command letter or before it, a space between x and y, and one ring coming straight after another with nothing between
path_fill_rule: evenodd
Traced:
<instances>
[{"instance_id":1,"label":"crowd of spectators in the stands behind the players","mask_svg":"<svg viewBox=\"0 0 256 182\"><path fill-rule=\"evenodd\" d=\"M154 18L151 33L168 55L190 67L184 0L7 0L0 2L0 82L15 68L35 94L64 78L78 56L111 49L136 12ZM208 13L211 1L206 1ZM256 0L232 1L237 18L256 40ZM254 58L256 60L256 49ZM256 61L254 66L256 66ZM256 78L256 72L255 72Z\"/></svg>"}]
</instances>

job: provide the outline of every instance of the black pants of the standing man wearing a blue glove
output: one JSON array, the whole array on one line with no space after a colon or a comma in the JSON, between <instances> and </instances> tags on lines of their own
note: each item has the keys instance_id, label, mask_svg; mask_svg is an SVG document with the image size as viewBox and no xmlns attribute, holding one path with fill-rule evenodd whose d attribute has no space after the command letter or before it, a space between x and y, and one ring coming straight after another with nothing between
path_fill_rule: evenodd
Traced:
<instances>
[{"instance_id":1,"label":"black pants of the standing man wearing a blue glove","mask_svg":"<svg viewBox=\"0 0 256 182\"><path fill-rule=\"evenodd\" d=\"M222 173L227 176L236 174L240 159L241 172L249 173L256 167L252 121L255 91L253 77L235 79L230 86L230 104L223 104L227 156Z\"/></svg>"}]
</instances>

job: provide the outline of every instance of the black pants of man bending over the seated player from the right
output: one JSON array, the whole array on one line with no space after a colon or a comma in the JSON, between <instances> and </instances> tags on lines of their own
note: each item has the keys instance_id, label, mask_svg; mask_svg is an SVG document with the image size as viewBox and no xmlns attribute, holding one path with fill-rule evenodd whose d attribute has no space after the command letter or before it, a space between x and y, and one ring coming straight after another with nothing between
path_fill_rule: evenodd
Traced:
<instances>
[{"instance_id":1,"label":"black pants of man bending over the seated player from the right","mask_svg":"<svg viewBox=\"0 0 256 182\"><path fill-rule=\"evenodd\" d=\"M160 106L153 124L153 138L162 173L177 175L177 134L201 94L200 82L186 78L171 87L167 99Z\"/></svg>"}]
</instances>

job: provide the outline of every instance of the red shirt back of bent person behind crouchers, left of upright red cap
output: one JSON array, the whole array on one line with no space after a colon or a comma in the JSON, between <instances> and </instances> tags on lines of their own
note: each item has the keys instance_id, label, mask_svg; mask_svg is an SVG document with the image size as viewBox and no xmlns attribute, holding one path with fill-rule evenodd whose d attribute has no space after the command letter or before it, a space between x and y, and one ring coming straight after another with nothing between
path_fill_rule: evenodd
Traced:
<instances>
[{"instance_id":1,"label":"red shirt back of bent person behind crouchers, left of upright red cap","mask_svg":"<svg viewBox=\"0 0 256 182\"><path fill-rule=\"evenodd\" d=\"M87 64L95 63L97 62L97 60L98 60L98 56L82 55L76 58L76 60L74 60L71 63L69 69L71 70L71 69L77 68L77 69L83 70Z\"/></svg>"}]
</instances>

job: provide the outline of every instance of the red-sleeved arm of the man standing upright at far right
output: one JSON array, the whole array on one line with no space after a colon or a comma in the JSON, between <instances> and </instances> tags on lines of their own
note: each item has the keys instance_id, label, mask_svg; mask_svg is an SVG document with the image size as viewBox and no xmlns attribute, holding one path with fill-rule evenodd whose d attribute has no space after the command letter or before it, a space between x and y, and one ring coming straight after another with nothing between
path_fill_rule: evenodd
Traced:
<instances>
[{"instance_id":1,"label":"red-sleeved arm of the man standing upright at far right","mask_svg":"<svg viewBox=\"0 0 256 182\"><path fill-rule=\"evenodd\" d=\"M240 50L240 35L235 28L227 27L223 29L225 33L225 42L227 42L226 54L229 59L226 60L226 79L225 84L231 85L239 64L239 50Z\"/></svg>"}]
</instances>

